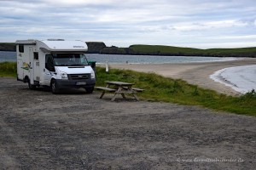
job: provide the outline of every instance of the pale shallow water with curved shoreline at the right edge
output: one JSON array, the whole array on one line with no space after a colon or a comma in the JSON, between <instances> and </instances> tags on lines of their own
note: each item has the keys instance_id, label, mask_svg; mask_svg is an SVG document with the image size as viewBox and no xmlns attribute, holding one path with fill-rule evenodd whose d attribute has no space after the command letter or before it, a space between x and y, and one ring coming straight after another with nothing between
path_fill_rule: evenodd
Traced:
<instances>
[{"instance_id":1,"label":"pale shallow water with curved shoreline at the right edge","mask_svg":"<svg viewBox=\"0 0 256 170\"><path fill-rule=\"evenodd\" d=\"M224 83L241 94L256 90L256 65L225 68L210 76L215 82Z\"/></svg>"}]
</instances>

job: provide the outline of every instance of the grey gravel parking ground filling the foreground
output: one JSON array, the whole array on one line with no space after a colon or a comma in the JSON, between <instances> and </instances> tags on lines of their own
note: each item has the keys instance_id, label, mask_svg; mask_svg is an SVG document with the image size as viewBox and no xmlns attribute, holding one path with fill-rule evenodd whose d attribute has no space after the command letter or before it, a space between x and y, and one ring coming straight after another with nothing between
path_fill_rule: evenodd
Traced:
<instances>
[{"instance_id":1,"label":"grey gravel parking ground filling the foreground","mask_svg":"<svg viewBox=\"0 0 256 170\"><path fill-rule=\"evenodd\" d=\"M254 169L256 117L0 78L2 169Z\"/></svg>"}]
</instances>

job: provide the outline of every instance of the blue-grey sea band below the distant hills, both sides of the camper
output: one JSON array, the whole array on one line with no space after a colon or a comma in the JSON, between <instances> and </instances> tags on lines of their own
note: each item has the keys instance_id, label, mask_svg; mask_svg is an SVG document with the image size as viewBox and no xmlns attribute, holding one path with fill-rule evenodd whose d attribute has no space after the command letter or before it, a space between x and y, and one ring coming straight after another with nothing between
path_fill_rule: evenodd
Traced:
<instances>
[{"instance_id":1,"label":"blue-grey sea band below the distant hills, both sides of the camper","mask_svg":"<svg viewBox=\"0 0 256 170\"><path fill-rule=\"evenodd\" d=\"M154 55L113 55L113 54L86 54L88 60L96 63L116 64L163 64L163 63L189 63L233 60L236 58L199 57L199 56L154 56ZM0 51L0 62L16 61L16 52Z\"/></svg>"}]
</instances>

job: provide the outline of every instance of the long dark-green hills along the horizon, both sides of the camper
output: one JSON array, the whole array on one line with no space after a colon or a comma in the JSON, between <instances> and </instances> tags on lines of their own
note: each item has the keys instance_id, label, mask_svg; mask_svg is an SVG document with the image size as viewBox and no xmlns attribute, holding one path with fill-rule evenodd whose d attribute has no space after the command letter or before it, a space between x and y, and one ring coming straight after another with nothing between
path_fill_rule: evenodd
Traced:
<instances>
[{"instance_id":1,"label":"long dark-green hills along the horizon, both sides of the camper","mask_svg":"<svg viewBox=\"0 0 256 170\"><path fill-rule=\"evenodd\" d=\"M212 57L253 57L253 48L179 48L163 45L131 45L129 48L107 47L104 42L86 42L89 54L131 54L131 55L177 55ZM15 43L0 42L0 51L15 51Z\"/></svg>"}]
</instances>

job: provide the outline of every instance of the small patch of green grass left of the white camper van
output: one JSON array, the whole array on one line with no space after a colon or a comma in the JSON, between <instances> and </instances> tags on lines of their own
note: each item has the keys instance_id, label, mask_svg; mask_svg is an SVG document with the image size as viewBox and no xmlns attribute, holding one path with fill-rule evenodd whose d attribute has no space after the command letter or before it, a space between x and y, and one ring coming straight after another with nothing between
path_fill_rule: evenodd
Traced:
<instances>
[{"instance_id":1,"label":"small patch of green grass left of the white camper van","mask_svg":"<svg viewBox=\"0 0 256 170\"><path fill-rule=\"evenodd\" d=\"M0 77L16 77L17 64L15 62L0 63Z\"/></svg>"}]
</instances>

